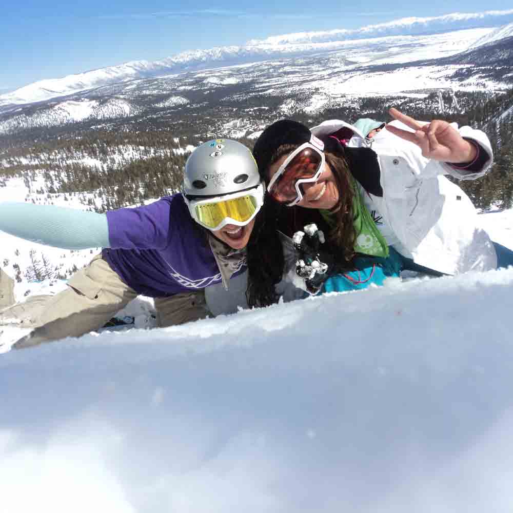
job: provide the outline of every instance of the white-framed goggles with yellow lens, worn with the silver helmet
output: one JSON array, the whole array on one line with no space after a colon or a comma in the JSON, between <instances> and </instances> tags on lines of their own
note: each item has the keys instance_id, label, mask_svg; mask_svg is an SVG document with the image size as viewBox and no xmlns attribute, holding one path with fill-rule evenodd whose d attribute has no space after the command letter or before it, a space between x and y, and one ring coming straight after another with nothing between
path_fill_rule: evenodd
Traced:
<instances>
[{"instance_id":1,"label":"white-framed goggles with yellow lens, worn with the silver helmet","mask_svg":"<svg viewBox=\"0 0 513 513\"><path fill-rule=\"evenodd\" d=\"M236 196L236 197L234 197ZM249 191L211 198L187 201L192 218L209 230L220 230L227 224L244 226L248 224L263 205L263 186Z\"/></svg>"}]
</instances>

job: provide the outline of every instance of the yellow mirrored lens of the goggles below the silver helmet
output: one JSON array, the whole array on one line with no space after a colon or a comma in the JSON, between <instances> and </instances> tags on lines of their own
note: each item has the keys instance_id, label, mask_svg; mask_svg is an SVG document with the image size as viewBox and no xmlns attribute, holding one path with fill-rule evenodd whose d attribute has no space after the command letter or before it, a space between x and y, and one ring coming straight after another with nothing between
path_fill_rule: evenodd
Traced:
<instances>
[{"instance_id":1,"label":"yellow mirrored lens of the goggles below the silver helmet","mask_svg":"<svg viewBox=\"0 0 513 513\"><path fill-rule=\"evenodd\" d=\"M194 211L200 224L213 229L226 218L245 223L252 218L258 208L257 198L247 195L233 200L196 205Z\"/></svg>"}]
</instances>

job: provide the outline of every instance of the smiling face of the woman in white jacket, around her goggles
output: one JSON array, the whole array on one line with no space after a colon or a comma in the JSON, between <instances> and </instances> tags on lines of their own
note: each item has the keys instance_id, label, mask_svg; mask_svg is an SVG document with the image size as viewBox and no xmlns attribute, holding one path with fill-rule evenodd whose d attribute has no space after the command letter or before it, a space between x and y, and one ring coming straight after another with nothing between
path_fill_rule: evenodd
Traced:
<instances>
[{"instance_id":1,"label":"smiling face of the woman in white jacket, around her goggles","mask_svg":"<svg viewBox=\"0 0 513 513\"><path fill-rule=\"evenodd\" d=\"M267 183L270 182L274 173L276 173L280 166L285 162L287 156L288 154L283 155L280 159L269 166L269 170L267 172ZM294 185L291 184L291 187L294 187ZM317 182L304 183L301 187L303 190L303 199L298 203L300 207L329 210L339 201L337 182L335 181L333 172L327 162L324 163L323 172Z\"/></svg>"}]
</instances>

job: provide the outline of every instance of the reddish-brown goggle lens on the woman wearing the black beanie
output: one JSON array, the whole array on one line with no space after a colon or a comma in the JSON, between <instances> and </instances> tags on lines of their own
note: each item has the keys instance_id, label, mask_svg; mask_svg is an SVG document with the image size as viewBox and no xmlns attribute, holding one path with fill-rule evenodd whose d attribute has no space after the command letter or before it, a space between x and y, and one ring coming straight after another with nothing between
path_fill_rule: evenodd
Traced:
<instances>
[{"instance_id":1,"label":"reddish-brown goggle lens on the woman wearing the black beanie","mask_svg":"<svg viewBox=\"0 0 513 513\"><path fill-rule=\"evenodd\" d=\"M304 148L294 155L269 191L272 198L279 203L290 203L297 199L296 182L315 176L321 163L321 154L312 148Z\"/></svg>"}]
</instances>

